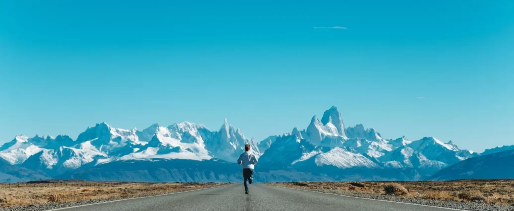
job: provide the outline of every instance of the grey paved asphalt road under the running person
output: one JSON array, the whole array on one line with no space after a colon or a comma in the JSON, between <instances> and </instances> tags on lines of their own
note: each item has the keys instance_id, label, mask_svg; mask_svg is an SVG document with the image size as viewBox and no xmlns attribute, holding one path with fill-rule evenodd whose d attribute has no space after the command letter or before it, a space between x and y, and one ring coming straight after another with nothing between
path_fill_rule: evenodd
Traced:
<instances>
[{"instance_id":1,"label":"grey paved asphalt road under the running person","mask_svg":"<svg viewBox=\"0 0 514 211\"><path fill-rule=\"evenodd\" d=\"M350 198L264 184L250 185L250 194L245 195L243 184L232 184L185 193L93 204L63 210L449 211L451 209Z\"/></svg>"}]
</instances>

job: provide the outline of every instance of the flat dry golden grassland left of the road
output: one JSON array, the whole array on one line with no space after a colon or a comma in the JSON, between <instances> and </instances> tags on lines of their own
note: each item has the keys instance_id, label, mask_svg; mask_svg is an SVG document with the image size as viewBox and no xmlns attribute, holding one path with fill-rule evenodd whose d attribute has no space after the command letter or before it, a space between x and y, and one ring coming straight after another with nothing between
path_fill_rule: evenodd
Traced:
<instances>
[{"instance_id":1,"label":"flat dry golden grassland left of the road","mask_svg":"<svg viewBox=\"0 0 514 211\"><path fill-rule=\"evenodd\" d=\"M0 189L0 207L47 202L121 199L224 185L223 183L124 183L110 186L23 187Z\"/></svg>"}]
</instances>

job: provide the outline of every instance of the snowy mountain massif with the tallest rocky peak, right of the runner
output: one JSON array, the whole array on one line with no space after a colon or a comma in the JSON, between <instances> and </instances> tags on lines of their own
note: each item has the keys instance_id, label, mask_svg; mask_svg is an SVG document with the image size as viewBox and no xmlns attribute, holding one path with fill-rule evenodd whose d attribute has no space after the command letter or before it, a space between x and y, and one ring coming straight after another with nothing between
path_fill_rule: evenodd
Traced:
<instances>
[{"instance_id":1,"label":"snowy mountain massif with the tallest rocky peak, right of the runner","mask_svg":"<svg viewBox=\"0 0 514 211\"><path fill-rule=\"evenodd\" d=\"M410 141L406 137L386 140L378 131L364 128L362 124L344 128L340 117L339 111L333 106L324 112L322 121L314 116L306 130L294 128L291 132L293 137L304 139L309 144L296 146L295 143L301 141L285 142L281 136L272 137L277 141L267 139L267 142L261 143L267 145L264 148L269 148L262 155L262 159L266 161L277 158L292 166L315 163L317 166L338 168L414 168L420 169L415 171L417 174L427 176L448 165L476 156L469 150L459 149L452 141L444 143L432 137L418 141ZM340 131L344 131L344 135ZM285 146L279 146L280 144ZM300 147L301 150L288 147ZM267 162L285 165L278 161ZM415 176L413 179L419 177Z\"/></svg>"}]
</instances>

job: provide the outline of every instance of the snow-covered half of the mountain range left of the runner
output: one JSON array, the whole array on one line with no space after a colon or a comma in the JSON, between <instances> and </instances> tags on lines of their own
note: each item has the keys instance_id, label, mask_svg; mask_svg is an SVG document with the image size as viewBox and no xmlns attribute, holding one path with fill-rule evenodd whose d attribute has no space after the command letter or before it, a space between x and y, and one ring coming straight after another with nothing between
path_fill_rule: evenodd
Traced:
<instances>
[{"instance_id":1,"label":"snow-covered half of the mountain range left of the runner","mask_svg":"<svg viewBox=\"0 0 514 211\"><path fill-rule=\"evenodd\" d=\"M0 147L0 158L11 165L56 176L83 166L126 160L218 158L234 162L246 143L261 155L257 144L227 120L218 131L189 122L168 127L154 124L142 131L115 128L103 122L88 127L77 140L68 136L16 136Z\"/></svg>"}]
</instances>

